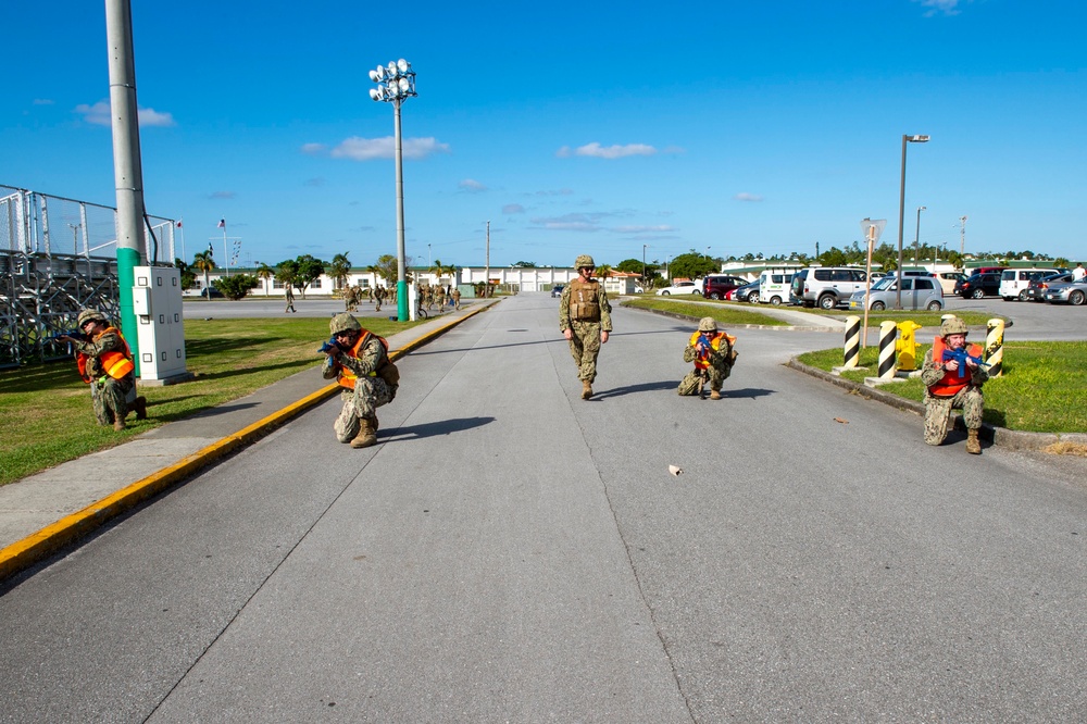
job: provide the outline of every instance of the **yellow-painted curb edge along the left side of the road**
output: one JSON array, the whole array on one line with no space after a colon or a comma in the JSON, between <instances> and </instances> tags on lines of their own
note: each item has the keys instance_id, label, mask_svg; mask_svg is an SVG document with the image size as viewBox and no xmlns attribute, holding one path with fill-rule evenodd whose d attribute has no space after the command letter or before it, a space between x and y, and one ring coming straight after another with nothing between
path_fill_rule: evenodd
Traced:
<instances>
[{"instance_id":1,"label":"yellow-painted curb edge along the left side of the road","mask_svg":"<svg viewBox=\"0 0 1087 724\"><path fill-rule=\"evenodd\" d=\"M428 332L422 337L413 339L403 347L389 352L389 359L400 359L408 352L441 336L464 320L486 311L493 303L480 305L463 316L451 320L449 323ZM335 396L339 390L339 385L335 383L329 384L316 392L305 396L298 402L292 402L263 420L259 420L233 435L227 435L223 439L186 455L173 465L136 480L132 485L87 505L83 510L66 515L37 533L33 533L22 540L13 542L0 550L0 581L5 581L20 571L24 571L45 559L50 553L87 536L107 521L132 510L145 500L180 483L220 458L238 448L255 442L292 417Z\"/></svg>"}]
</instances>

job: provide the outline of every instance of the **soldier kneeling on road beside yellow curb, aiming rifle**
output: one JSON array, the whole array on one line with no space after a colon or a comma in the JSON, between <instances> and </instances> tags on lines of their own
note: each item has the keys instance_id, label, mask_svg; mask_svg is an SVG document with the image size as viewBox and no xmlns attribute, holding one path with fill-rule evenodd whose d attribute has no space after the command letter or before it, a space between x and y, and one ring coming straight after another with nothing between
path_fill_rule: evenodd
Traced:
<instances>
[{"instance_id":1,"label":"soldier kneeling on road beside yellow curb, aiming rifle","mask_svg":"<svg viewBox=\"0 0 1087 724\"><path fill-rule=\"evenodd\" d=\"M376 410L397 396L400 371L389 360L389 344L363 329L354 315L337 314L328 328L333 336L320 350L327 354L321 375L345 388L343 409L333 425L336 439L368 448L377 442Z\"/></svg>"}]
</instances>

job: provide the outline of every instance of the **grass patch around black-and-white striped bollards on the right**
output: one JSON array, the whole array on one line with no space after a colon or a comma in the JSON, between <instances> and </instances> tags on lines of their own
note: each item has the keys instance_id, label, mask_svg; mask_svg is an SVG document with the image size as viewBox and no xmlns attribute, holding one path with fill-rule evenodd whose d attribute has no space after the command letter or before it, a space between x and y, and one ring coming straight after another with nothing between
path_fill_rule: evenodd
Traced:
<instances>
[{"instance_id":1,"label":"grass patch around black-and-white striped bollards on the right","mask_svg":"<svg viewBox=\"0 0 1087 724\"><path fill-rule=\"evenodd\" d=\"M919 367L932 345L919 345ZM861 350L866 372L844 372L842 377L863 383L875 376L878 348ZM797 358L829 372L842 362L841 348L809 352ZM1032 433L1087 432L1087 342L1014 341L1004 344L1003 375L985 384L985 422ZM920 379L883 385L880 390L921 402L925 386Z\"/></svg>"}]
</instances>

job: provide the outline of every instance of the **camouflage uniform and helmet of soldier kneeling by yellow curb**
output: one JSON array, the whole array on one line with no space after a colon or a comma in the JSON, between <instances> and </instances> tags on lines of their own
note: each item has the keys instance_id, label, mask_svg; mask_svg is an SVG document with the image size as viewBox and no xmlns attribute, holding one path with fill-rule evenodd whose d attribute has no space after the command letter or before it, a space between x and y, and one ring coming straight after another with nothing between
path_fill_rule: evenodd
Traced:
<instances>
[{"instance_id":1,"label":"camouflage uniform and helmet of soldier kneeling by yellow curb","mask_svg":"<svg viewBox=\"0 0 1087 724\"><path fill-rule=\"evenodd\" d=\"M325 379L337 379L341 370L350 370L357 379L354 389L346 388L340 394L343 408L339 416L333 424L336 430L336 439L340 442L352 442L363 423L372 425L376 435L377 432L377 408L388 404L397 396L399 388L399 372L396 365L389 360L388 353L382 340L362 329L359 322L350 314L337 314L333 317L332 328L335 334L337 325L345 324L343 317L350 317L354 326L359 329L365 341L357 352L358 357L351 357L343 351L335 355L326 355L324 364L321 366L321 376ZM349 323L348 323L349 324ZM391 374L390 370L391 367Z\"/></svg>"}]
</instances>

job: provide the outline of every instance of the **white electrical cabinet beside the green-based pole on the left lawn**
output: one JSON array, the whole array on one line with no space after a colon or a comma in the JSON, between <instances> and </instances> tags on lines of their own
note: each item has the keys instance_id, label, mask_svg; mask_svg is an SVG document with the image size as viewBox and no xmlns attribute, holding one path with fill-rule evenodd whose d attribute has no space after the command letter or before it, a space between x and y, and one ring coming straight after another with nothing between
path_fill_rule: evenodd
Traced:
<instances>
[{"instance_id":1,"label":"white electrical cabinet beside the green-based pole on the left lawn","mask_svg":"<svg viewBox=\"0 0 1087 724\"><path fill-rule=\"evenodd\" d=\"M173 266L137 266L134 271L140 382L170 385L191 378L185 369L180 273Z\"/></svg>"}]
</instances>

